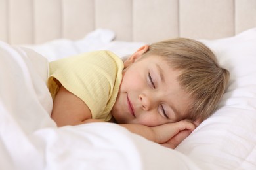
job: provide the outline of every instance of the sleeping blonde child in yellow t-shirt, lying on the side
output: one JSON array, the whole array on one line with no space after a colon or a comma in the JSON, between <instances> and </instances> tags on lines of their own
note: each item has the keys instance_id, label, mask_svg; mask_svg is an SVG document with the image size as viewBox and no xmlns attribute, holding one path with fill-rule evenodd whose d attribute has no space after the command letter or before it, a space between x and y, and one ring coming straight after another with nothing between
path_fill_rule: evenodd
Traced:
<instances>
[{"instance_id":1,"label":"sleeping blonde child in yellow t-shirt, lying on the side","mask_svg":"<svg viewBox=\"0 0 256 170\"><path fill-rule=\"evenodd\" d=\"M169 148L213 114L229 79L209 48L184 38L144 45L125 61L95 51L49 69L57 126L114 122Z\"/></svg>"}]
</instances>

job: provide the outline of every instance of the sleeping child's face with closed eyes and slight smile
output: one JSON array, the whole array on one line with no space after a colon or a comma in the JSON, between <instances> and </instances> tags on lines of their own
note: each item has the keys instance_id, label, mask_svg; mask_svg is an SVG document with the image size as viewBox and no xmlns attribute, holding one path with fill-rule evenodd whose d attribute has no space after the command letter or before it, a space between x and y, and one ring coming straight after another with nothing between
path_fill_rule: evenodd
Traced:
<instances>
[{"instance_id":1,"label":"sleeping child's face with closed eyes and slight smile","mask_svg":"<svg viewBox=\"0 0 256 170\"><path fill-rule=\"evenodd\" d=\"M191 99L177 81L179 71L171 69L159 56L140 58L144 53L140 50L125 61L112 116L119 124L146 126L186 118Z\"/></svg>"}]
</instances>

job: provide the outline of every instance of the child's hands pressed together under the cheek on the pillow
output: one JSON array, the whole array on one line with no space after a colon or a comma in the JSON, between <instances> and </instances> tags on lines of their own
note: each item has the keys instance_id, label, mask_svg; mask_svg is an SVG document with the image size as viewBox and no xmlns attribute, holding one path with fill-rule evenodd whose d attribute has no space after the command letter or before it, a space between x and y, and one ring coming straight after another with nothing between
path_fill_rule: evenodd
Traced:
<instances>
[{"instance_id":1,"label":"child's hands pressed together under the cheek on the pillow","mask_svg":"<svg viewBox=\"0 0 256 170\"><path fill-rule=\"evenodd\" d=\"M196 126L188 120L152 127L157 143L168 148L176 148L195 128Z\"/></svg>"}]
</instances>

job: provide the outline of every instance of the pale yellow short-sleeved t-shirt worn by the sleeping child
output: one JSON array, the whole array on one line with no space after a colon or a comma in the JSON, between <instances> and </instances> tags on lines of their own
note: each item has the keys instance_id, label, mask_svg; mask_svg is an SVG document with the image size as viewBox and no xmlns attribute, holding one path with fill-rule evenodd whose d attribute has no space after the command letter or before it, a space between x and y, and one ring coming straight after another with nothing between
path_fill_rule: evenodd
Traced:
<instances>
[{"instance_id":1,"label":"pale yellow short-sleeved t-shirt worn by the sleeping child","mask_svg":"<svg viewBox=\"0 0 256 170\"><path fill-rule=\"evenodd\" d=\"M84 101L92 118L109 121L119 91L123 61L109 51L96 51L49 63L49 91L54 99L60 84ZM56 78L58 82L54 79Z\"/></svg>"}]
</instances>

